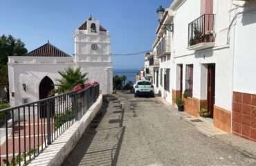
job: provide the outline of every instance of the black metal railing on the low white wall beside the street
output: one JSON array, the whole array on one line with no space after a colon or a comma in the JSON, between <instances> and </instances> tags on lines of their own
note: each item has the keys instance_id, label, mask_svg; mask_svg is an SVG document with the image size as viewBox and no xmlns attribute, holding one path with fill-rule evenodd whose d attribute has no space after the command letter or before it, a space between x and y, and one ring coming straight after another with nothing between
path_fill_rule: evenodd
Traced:
<instances>
[{"instance_id":1,"label":"black metal railing on the low white wall beside the street","mask_svg":"<svg viewBox=\"0 0 256 166\"><path fill-rule=\"evenodd\" d=\"M24 165L82 118L98 99L100 85L0 110L0 165Z\"/></svg>"}]
</instances>

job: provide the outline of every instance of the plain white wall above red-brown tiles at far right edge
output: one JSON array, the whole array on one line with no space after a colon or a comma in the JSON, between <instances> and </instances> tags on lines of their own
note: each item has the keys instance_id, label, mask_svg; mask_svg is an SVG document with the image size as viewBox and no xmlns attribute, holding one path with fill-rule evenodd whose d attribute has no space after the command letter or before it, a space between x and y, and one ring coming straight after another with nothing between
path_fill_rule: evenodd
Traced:
<instances>
[{"instance_id":1,"label":"plain white wall above red-brown tiles at far right edge","mask_svg":"<svg viewBox=\"0 0 256 166\"><path fill-rule=\"evenodd\" d=\"M239 8L235 27L234 91L256 94L256 1Z\"/></svg>"}]
</instances>

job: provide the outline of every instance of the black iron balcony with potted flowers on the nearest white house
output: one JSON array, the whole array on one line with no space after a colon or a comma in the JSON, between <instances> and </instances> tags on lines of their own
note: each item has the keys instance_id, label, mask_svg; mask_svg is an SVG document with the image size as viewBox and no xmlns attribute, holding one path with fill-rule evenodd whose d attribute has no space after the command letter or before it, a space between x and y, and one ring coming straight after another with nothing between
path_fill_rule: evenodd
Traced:
<instances>
[{"instance_id":1,"label":"black iron balcony with potted flowers on the nearest white house","mask_svg":"<svg viewBox=\"0 0 256 166\"><path fill-rule=\"evenodd\" d=\"M203 50L215 46L214 14L205 14L188 24L188 50Z\"/></svg>"}]
</instances>

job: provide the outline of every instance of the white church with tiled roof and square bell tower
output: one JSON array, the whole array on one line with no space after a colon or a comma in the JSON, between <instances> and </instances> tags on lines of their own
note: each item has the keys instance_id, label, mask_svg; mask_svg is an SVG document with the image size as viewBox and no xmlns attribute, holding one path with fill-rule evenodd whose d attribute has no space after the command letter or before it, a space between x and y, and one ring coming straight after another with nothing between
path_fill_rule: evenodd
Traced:
<instances>
[{"instance_id":1,"label":"white church with tiled roof and square bell tower","mask_svg":"<svg viewBox=\"0 0 256 166\"><path fill-rule=\"evenodd\" d=\"M89 17L75 30L75 56L64 53L49 42L25 56L8 57L11 107L47 98L60 78L58 71L78 66L87 72L89 82L100 83L102 94L112 92L113 67L110 33L100 21Z\"/></svg>"}]
</instances>

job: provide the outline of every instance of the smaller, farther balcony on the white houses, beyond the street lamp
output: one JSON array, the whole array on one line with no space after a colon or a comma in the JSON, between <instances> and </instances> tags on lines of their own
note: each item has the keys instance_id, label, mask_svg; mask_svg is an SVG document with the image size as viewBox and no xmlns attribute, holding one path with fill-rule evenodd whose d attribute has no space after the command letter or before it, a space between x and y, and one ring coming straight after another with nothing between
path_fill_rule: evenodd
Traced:
<instances>
[{"instance_id":1,"label":"smaller, farther balcony on the white houses, beyond the street lamp","mask_svg":"<svg viewBox=\"0 0 256 166\"><path fill-rule=\"evenodd\" d=\"M159 58L170 55L170 53L170 40L167 37L163 37L158 46L156 46L156 56Z\"/></svg>"}]
</instances>

